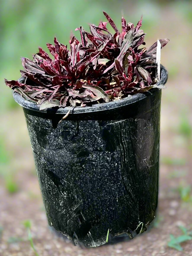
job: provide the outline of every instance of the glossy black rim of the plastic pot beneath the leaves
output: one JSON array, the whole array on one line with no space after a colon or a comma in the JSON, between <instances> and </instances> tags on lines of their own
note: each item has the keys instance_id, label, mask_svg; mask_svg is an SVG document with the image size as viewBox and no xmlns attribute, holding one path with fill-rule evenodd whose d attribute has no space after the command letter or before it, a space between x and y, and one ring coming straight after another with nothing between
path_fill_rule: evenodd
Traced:
<instances>
[{"instance_id":1,"label":"glossy black rim of the plastic pot beneath the leaves","mask_svg":"<svg viewBox=\"0 0 192 256\"><path fill-rule=\"evenodd\" d=\"M158 81L157 85L165 85L168 80L168 72L163 65L161 65L161 79ZM90 113L90 112L98 112L104 110L111 110L123 107L125 105L132 104L136 101L140 101L144 98L149 97L153 92L159 90L158 88L152 88L149 92L146 93L137 93L132 97L126 97L122 99L118 99L115 101L104 102L100 104L93 104L91 107L65 107L59 108L57 111L54 111L55 114L66 114L69 110L72 111L73 114L82 114L82 113ZM12 93L14 100L23 108L28 110L34 110L41 113L47 113L48 110L39 110L40 106L34 102L24 99L19 93ZM71 112L70 111L70 112Z\"/></svg>"}]
</instances>

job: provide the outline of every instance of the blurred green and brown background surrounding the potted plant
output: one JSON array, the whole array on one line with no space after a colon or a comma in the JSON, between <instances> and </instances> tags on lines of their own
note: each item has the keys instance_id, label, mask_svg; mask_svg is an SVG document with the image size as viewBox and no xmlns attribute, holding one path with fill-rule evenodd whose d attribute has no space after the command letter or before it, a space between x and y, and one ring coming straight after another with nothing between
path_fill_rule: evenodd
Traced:
<instances>
[{"instance_id":1,"label":"blurred green and brown background surrounding the potted plant","mask_svg":"<svg viewBox=\"0 0 192 256\"><path fill-rule=\"evenodd\" d=\"M18 79L19 70L22 69L21 57L31 59L38 46L46 49L46 43L53 43L55 36L60 42L67 44L70 33L79 34L74 31L76 27L82 25L88 30L88 23L98 24L100 20L105 20L103 10L119 26L122 14L134 24L143 14L143 29L147 33L146 47L151 46L157 38L170 39L162 50L161 58L162 64L168 69L169 78L167 89L163 90L162 95L159 197L161 221L158 219L161 224L158 221L156 223L156 228L159 229L158 246L162 243L164 255L168 256L172 252L167 251L169 234L176 233L176 237L180 235L177 224L171 223L181 221L180 224L191 229L192 1L0 0L0 255L13 255L17 252L15 243L21 244L25 248L24 253L28 255L30 244L22 244L23 240L27 240L22 224L25 219L32 219L34 223L32 234L37 239L34 243L40 244L37 246L40 255L47 255L46 244L52 243L48 242L48 238L44 239L48 232L47 222L42 211L42 199L22 108L14 102L11 90L4 84L4 78ZM174 212L176 207L173 202L175 206L178 203L177 212ZM42 214L44 222L39 217ZM38 228L43 225L44 232L39 234ZM144 244L142 241L144 239L140 240ZM180 248L177 241L171 243ZM150 245L150 235L146 243ZM14 244L13 249L10 244ZM191 241L182 246L186 255L188 250L192 251L190 244ZM22 250L19 248L18 253ZM137 250L135 245L135 251ZM154 253L156 248L147 250L146 255ZM59 251L62 250L56 246L54 252L62 255ZM160 255L158 253L160 249L153 255ZM109 254L112 255L110 250ZM184 253L178 255L185 256Z\"/></svg>"}]
</instances>

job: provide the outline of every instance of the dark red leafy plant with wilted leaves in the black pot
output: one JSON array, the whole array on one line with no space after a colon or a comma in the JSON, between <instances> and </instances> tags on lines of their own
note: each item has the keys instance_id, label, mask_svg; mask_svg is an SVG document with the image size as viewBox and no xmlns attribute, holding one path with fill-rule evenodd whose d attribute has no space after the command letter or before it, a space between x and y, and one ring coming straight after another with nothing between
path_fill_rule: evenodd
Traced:
<instances>
[{"instance_id":1,"label":"dark red leafy plant with wilted leaves in the black pot","mask_svg":"<svg viewBox=\"0 0 192 256\"><path fill-rule=\"evenodd\" d=\"M145 92L156 86L156 46L141 48L144 31L142 19L136 27L122 17L121 31L104 12L108 22L91 24L90 33L80 31L81 42L74 36L70 50L55 37L54 46L47 44L53 58L39 48L33 61L22 59L24 71L18 81L5 84L25 99L41 105L40 109L108 102ZM109 33L107 24L115 30ZM161 47L168 43L161 39Z\"/></svg>"}]
</instances>

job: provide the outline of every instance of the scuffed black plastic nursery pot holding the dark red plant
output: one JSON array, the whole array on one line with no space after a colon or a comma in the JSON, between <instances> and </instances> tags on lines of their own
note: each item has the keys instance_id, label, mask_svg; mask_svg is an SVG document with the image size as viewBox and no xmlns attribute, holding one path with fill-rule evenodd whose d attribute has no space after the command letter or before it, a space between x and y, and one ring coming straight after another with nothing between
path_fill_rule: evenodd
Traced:
<instances>
[{"instance_id":1,"label":"scuffed black plastic nursery pot holding the dark red plant","mask_svg":"<svg viewBox=\"0 0 192 256\"><path fill-rule=\"evenodd\" d=\"M159 85L167 82L161 67ZM158 201L161 90L73 108L24 109L48 224L87 247L147 230Z\"/></svg>"}]
</instances>

